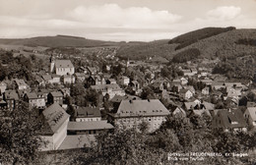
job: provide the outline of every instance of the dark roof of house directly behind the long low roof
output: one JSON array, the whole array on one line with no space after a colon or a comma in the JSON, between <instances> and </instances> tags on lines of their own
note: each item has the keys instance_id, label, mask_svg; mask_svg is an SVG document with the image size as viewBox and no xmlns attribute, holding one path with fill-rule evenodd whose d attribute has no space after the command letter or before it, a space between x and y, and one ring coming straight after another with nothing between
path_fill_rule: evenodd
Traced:
<instances>
[{"instance_id":1,"label":"dark roof of house directly behind the long low roof","mask_svg":"<svg viewBox=\"0 0 256 165\"><path fill-rule=\"evenodd\" d=\"M94 118L101 117L99 108L79 107L75 109L75 117L77 118Z\"/></svg>"}]
</instances>

